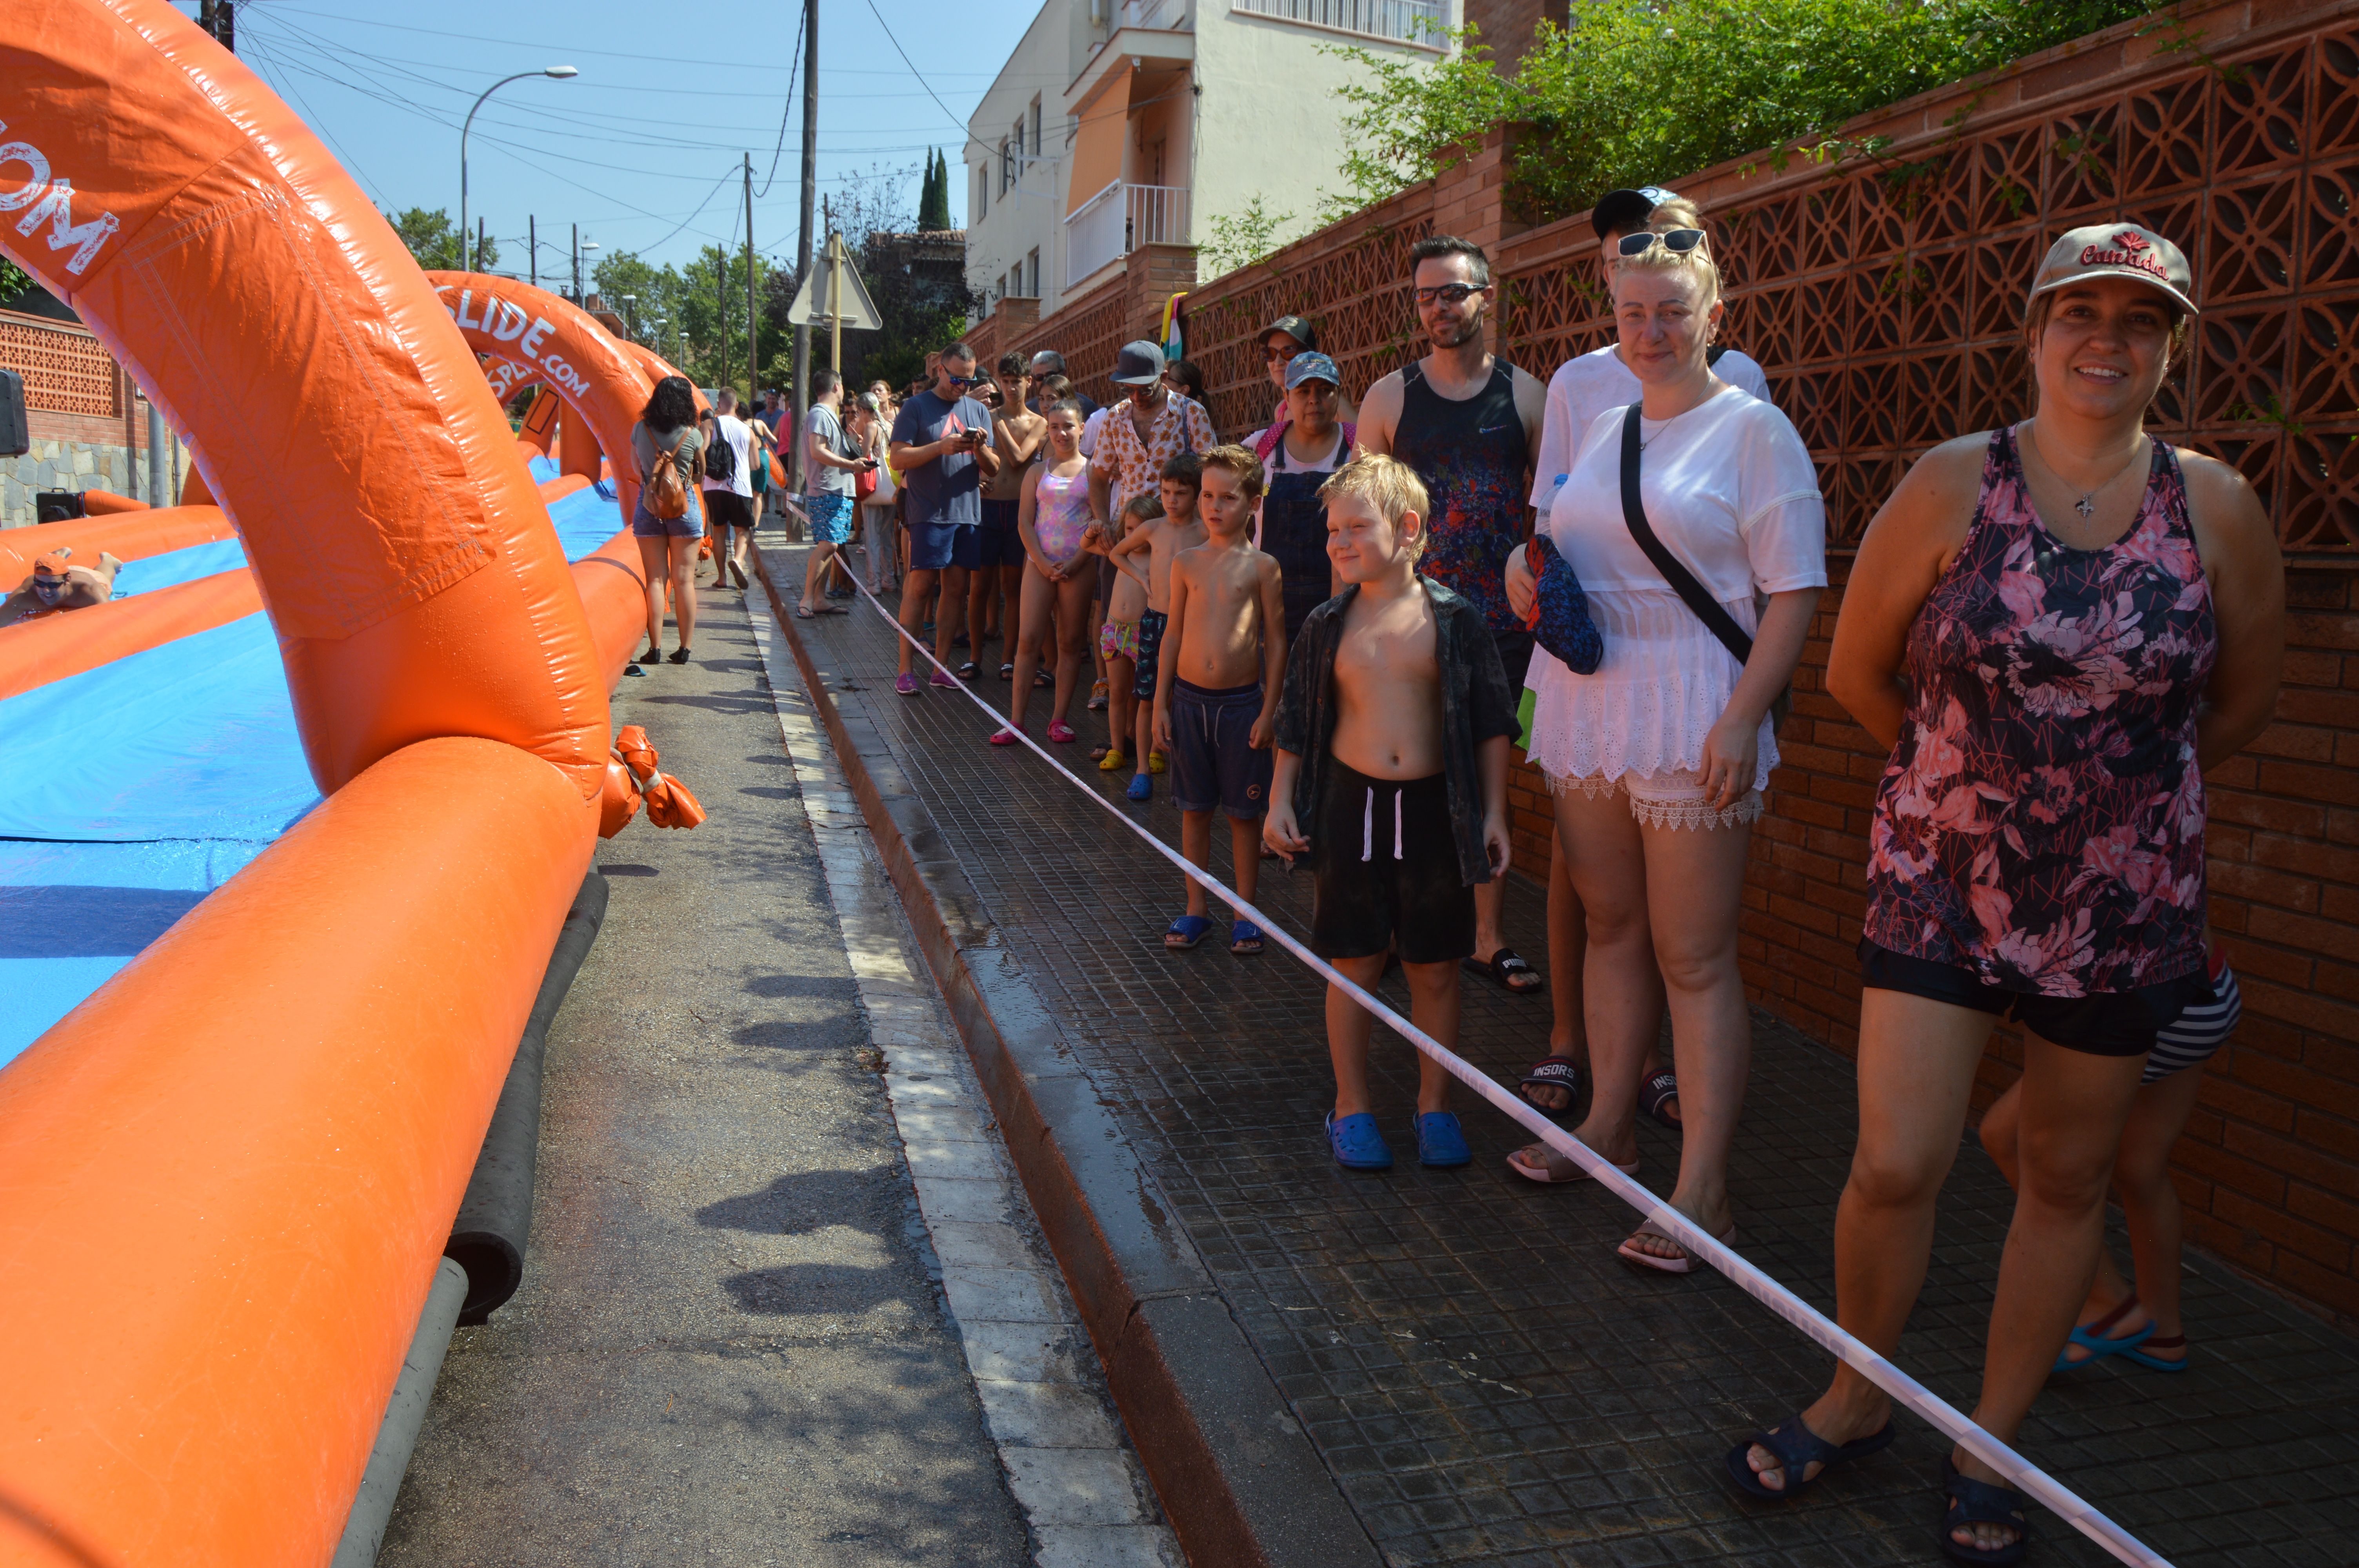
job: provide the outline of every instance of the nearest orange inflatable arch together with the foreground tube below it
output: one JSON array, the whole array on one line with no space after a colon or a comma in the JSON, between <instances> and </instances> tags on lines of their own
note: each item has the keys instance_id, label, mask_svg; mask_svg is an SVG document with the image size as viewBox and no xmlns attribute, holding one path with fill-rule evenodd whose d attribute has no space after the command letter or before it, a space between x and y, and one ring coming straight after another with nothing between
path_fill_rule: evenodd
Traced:
<instances>
[{"instance_id":1,"label":"nearest orange inflatable arch together with the foreground tube below it","mask_svg":"<svg viewBox=\"0 0 2359 1568\"><path fill-rule=\"evenodd\" d=\"M0 245L184 431L326 802L0 1070L0 1561L314 1568L597 832L604 660L451 314L163 0L19 0Z\"/></svg>"}]
</instances>

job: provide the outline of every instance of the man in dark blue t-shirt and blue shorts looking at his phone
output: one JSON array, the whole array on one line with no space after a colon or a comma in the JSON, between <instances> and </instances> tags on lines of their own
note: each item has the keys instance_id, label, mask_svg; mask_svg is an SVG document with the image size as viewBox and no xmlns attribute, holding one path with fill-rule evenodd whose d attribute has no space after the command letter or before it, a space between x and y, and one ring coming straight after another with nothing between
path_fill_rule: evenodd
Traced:
<instances>
[{"instance_id":1,"label":"man in dark blue t-shirt and blue shorts looking at his phone","mask_svg":"<svg viewBox=\"0 0 2359 1568\"><path fill-rule=\"evenodd\" d=\"M967 573L981 564L984 479L1000 472L991 450L991 410L967 396L974 349L953 342L934 361L934 384L901 403L892 424L892 467L901 474L908 523L908 578L901 582L901 625L918 632L925 601L941 587L934 611L934 658L951 663L951 639L967 611ZM932 686L958 686L934 670ZM894 691L918 696L911 646L901 644Z\"/></svg>"}]
</instances>

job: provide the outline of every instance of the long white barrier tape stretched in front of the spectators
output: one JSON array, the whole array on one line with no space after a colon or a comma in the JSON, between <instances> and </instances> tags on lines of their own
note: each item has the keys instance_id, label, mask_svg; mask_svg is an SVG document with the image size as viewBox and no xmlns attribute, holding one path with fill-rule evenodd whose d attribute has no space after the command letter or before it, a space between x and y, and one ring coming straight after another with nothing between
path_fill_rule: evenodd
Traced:
<instances>
[{"instance_id":1,"label":"long white barrier tape stretched in front of the spectators","mask_svg":"<svg viewBox=\"0 0 2359 1568\"><path fill-rule=\"evenodd\" d=\"M953 674L939 658L934 658L934 651L927 648L918 637L913 637L911 630L903 627L901 620L892 611L887 611L878 601L878 597L868 592L868 587L863 582L854 580L852 587L859 589L861 599L866 599L870 604L870 608L875 608L875 613L882 615L885 622L894 632L901 634L903 641L908 641L913 648L918 648L918 653L925 655L925 663L934 665L934 670L941 670L944 679L953 681L958 686L958 691L962 691L967 698L974 700L977 707L981 707L986 714L991 714L993 719L998 719L1003 729L1007 729L1007 714L1003 714L1000 710L991 707L991 703L986 703L981 698L981 693L977 693L972 686L967 686L965 681L960 681L958 674ZM1606 1160L1604 1155L1599 1155L1597 1151L1592 1151L1588 1144L1583 1144L1573 1134L1569 1134L1562 1127L1557 1127L1555 1122L1550 1122L1522 1094L1514 1094L1512 1089L1507 1089L1505 1085L1500 1085L1498 1080L1493 1080L1489 1073L1484 1073L1484 1070L1474 1068L1472 1063L1463 1061L1456 1052L1451 1052L1448 1047L1444 1047L1439 1040L1434 1040L1432 1035L1427 1035L1425 1030L1420 1030L1415 1023L1411 1023L1401 1014L1392 1012L1392 1007L1387 1007L1380 997L1375 997L1375 995L1361 990L1359 986L1354 986L1333 964L1328 964L1323 957L1319 957L1316 953L1312 953L1309 948L1305 948L1276 920L1272 920L1262 910L1257 910L1250 903L1246 903L1224 882L1220 882L1217 877L1213 877L1201 865L1189 863L1187 856L1182 856L1177 849L1172 849L1170 844L1165 844L1156 835L1146 832L1146 828L1142 828L1139 823L1130 821L1123 813L1121 806L1116 806L1111 799L1106 799L1104 795L1099 795L1097 790L1092 790L1087 780L1083 780L1069 766L1064 766L1062 762L1057 762L1057 757L1050 755L1038 740L1033 740L1024 731L1014 731L1014 736L1026 747L1031 747L1031 752L1036 757L1040 757L1040 762L1045 762L1052 769L1057 769L1059 773L1064 773L1064 778L1076 790L1080 790L1083 795L1087 795L1090 799L1095 799L1099 806L1104 806L1106 813L1113 816L1113 821L1118 821L1123 828L1130 828L1130 832L1135 832L1158 856L1163 856L1165 861L1170 861L1182 875L1187 875L1189 879L1194 879L1196 884L1201 884L1208 894L1215 894L1222 903L1227 903L1229 908L1234 908L1238 915L1243 915L1253 924L1262 927L1262 936L1267 936L1269 941L1276 941L1281 948L1286 948L1288 953L1293 953L1295 957L1300 957L1319 976L1323 976L1330 986L1342 988L1347 995L1352 995L1352 1000L1356 1000L1371 1014L1375 1014L1378 1019L1382 1019L1387 1028L1392 1028L1397 1035L1401 1035L1404 1040L1408 1040L1413 1047L1418 1047L1420 1052L1425 1052L1427 1056L1432 1056L1437 1063L1441 1063L1444 1068L1448 1068L1451 1078L1456 1078L1458 1082L1463 1082L1470 1089L1474 1089L1477 1094L1481 1094L1498 1111L1505 1111L1517 1125L1524 1127L1524 1132L1531 1132L1536 1139L1540 1139L1543 1144L1548 1144L1550 1148L1555 1148L1557 1153L1562 1153L1566 1160L1571 1160L1573 1165L1578 1165L1581 1170L1585 1170L1599 1186L1609 1188L1616 1198L1621 1198L1632 1210L1637 1210L1640 1214L1644 1214L1647 1219L1651 1219L1656 1226L1661 1226L1663 1231L1668 1231L1682 1247L1687 1247L1694 1257L1703 1259L1706 1264L1710 1264L1713 1269L1717 1269L1720 1273L1724 1273L1729 1280L1736 1283L1739 1290L1743 1290L1746 1294L1750 1294L1755 1302L1760 1302L1762 1306L1767 1306L1776 1316L1786 1318L1786 1323L1793 1323L1798 1330L1802 1330L1805 1335L1809 1335L1812 1339L1816 1339L1821 1349L1831 1351L1838 1361L1842 1361L1854 1372L1859 1372L1861 1377L1866 1377L1871 1384L1875 1384L1878 1389L1882 1389L1885 1394L1890 1394L1899 1405L1904 1405L1906 1410L1911 1410L1918 1417L1923 1417L1927 1424L1932 1424L1944 1436L1949 1436L1951 1441L1956 1441L1958 1445L1963 1445L1967 1452L1972 1452L1977 1460L1982 1460L1984 1464L1989 1464L1991 1469L1996 1469L2000 1476L2008 1476L2008 1481L2015 1483L2024 1495L2029 1495L2033 1502L2038 1502L2041 1507L2045 1507L2050 1514L2055 1514L2057 1518L2062 1518L2071 1528L2081 1530L2081 1535L2088 1535L2092 1542L2097 1542L2100 1547L2104 1547L2107 1551L2111 1551L2118 1561L2135 1563L2137 1568L2170 1568L2170 1563L2158 1551L2154 1551L2151 1547L2147 1547L2144 1542L2140 1542L2135 1535L2130 1535L2128 1530L2123 1530L2118 1523L2114 1523L2111 1518L2107 1518L2104 1514L2100 1514L2095 1504L2090 1504L2078 1493L2074 1493L2071 1488L2066 1488L2064 1483L2059 1483L2055 1476L2050 1476L2048 1471L2043 1471L2031 1460L2022 1457L2019 1452L2015 1452L2012 1448L2008 1448L2005 1443L2000 1443L1998 1438L1993 1438L1989 1431L1984 1431L1982 1427L1977 1427L1956 1405L1951 1405L1949 1401L1944 1401L1941 1396L1937 1396L1932 1389L1927 1389L1918 1379L1908 1377L1897 1365L1892 1365L1887 1358L1878 1356L1873 1349L1868 1349L1866 1344L1861 1344L1859 1339L1854 1339L1852 1335L1847 1335L1831 1318L1826 1318L1816 1306L1812 1306L1802 1297L1793 1294L1790 1290L1786 1290L1783 1285L1779 1285L1774 1278L1769 1278L1767 1273L1762 1273L1760 1269L1755 1269L1750 1261L1746 1261L1743 1254L1734 1252L1732 1247L1724 1247L1713 1236L1706 1236L1706 1231L1696 1221L1691 1221L1687 1214L1682 1214L1680 1210L1670 1207L1668 1203L1663 1203L1661 1198L1656 1198L1654 1193L1649 1193L1644 1186L1640 1186L1637 1181L1632 1181L1630 1177L1625 1177L1621 1170L1616 1170L1616 1165L1611 1160Z\"/></svg>"}]
</instances>

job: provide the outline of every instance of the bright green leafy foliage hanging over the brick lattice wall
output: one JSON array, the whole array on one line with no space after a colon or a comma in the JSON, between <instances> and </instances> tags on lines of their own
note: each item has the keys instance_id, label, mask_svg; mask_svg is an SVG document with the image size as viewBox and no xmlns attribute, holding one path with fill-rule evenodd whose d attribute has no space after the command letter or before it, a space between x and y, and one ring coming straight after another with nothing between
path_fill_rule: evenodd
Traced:
<instances>
[{"instance_id":1,"label":"bright green leafy foliage hanging over the brick lattice wall","mask_svg":"<svg viewBox=\"0 0 2359 1568\"><path fill-rule=\"evenodd\" d=\"M2149 0L1588 0L1540 24L1498 75L1474 28L1415 66L1338 47L1345 191L1326 219L1385 200L1467 153L1500 120L1531 125L1510 172L1526 222L1585 210L1616 186L1661 184L1762 151L1772 160L1873 156L1845 120L2142 17Z\"/></svg>"}]
</instances>

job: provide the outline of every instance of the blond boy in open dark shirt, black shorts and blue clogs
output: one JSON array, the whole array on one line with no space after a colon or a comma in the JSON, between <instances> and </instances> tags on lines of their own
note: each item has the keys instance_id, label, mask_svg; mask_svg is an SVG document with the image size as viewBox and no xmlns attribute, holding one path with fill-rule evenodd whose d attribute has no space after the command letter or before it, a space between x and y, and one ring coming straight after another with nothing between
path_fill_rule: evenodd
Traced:
<instances>
[{"instance_id":1,"label":"blond boy in open dark shirt, black shorts and blue clogs","mask_svg":"<svg viewBox=\"0 0 2359 1568\"><path fill-rule=\"evenodd\" d=\"M1425 483L1392 457L1356 457L1319 488L1342 592L1302 622L1279 700L1279 759L1262 839L1316 877L1312 950L1364 990L1385 955L1408 976L1408 1016L1458 1045L1458 960L1474 953L1474 887L1507 875L1507 738L1514 696L1481 611L1418 575ZM1326 997L1345 1170L1385 1170L1368 1111L1375 1019ZM1451 1075L1418 1059L1418 1162L1467 1165Z\"/></svg>"}]
</instances>

